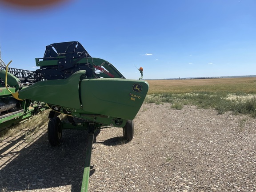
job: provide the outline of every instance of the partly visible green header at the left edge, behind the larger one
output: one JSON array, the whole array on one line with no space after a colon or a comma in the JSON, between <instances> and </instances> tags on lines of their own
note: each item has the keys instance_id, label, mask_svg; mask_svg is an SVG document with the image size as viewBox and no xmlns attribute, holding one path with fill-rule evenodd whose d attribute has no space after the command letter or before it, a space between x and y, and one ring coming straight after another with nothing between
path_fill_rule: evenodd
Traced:
<instances>
[{"instance_id":1,"label":"partly visible green header at the left edge, behind the larger one","mask_svg":"<svg viewBox=\"0 0 256 192\"><path fill-rule=\"evenodd\" d=\"M30 99L16 100L11 94L20 88L27 88L32 85L35 82L34 76L35 72L33 71L9 68L6 87L6 66L0 66L0 134L7 128L38 114L46 108L43 102Z\"/></svg>"}]
</instances>

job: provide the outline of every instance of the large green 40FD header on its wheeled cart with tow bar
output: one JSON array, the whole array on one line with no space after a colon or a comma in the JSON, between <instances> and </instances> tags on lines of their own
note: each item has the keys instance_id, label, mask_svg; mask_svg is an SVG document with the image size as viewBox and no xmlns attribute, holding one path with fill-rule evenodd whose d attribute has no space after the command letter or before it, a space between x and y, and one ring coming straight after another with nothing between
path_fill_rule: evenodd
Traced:
<instances>
[{"instance_id":1,"label":"large green 40FD header on its wheeled cart with tow bar","mask_svg":"<svg viewBox=\"0 0 256 192\"><path fill-rule=\"evenodd\" d=\"M87 191L94 132L100 128L123 128L124 139L129 142L133 138L133 119L148 92L148 83L140 80L143 68L139 69L139 80L125 79L111 63L91 57L77 41L46 46L44 57L36 58L36 66L40 69L26 79L29 86L24 86L7 66L8 72L2 70L0 77L6 79L9 88L3 86L2 91L10 95L9 104L47 104L51 109L48 140L52 146L61 144L63 129L88 129L81 188ZM68 122L62 122L60 114L65 114Z\"/></svg>"}]
</instances>

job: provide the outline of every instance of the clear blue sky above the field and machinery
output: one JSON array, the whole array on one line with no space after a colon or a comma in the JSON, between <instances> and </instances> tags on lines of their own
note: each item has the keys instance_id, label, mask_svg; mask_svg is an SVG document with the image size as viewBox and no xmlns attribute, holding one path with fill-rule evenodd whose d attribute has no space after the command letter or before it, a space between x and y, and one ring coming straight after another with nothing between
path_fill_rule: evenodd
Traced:
<instances>
[{"instance_id":1,"label":"clear blue sky above the field and machinery","mask_svg":"<svg viewBox=\"0 0 256 192\"><path fill-rule=\"evenodd\" d=\"M1 2L1 0L0 0ZM126 78L256 75L256 0L67 0L0 3L2 59L36 70L45 46L79 41Z\"/></svg>"}]
</instances>

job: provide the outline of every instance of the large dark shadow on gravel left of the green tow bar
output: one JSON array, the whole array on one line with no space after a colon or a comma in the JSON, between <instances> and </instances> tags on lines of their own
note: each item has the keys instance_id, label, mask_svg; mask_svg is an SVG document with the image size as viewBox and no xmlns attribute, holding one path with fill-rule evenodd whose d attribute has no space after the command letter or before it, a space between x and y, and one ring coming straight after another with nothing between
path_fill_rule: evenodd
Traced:
<instances>
[{"instance_id":1,"label":"large dark shadow on gravel left of the green tow bar","mask_svg":"<svg viewBox=\"0 0 256 192\"><path fill-rule=\"evenodd\" d=\"M96 133L95 137L99 134ZM86 130L64 130L60 147L51 147L47 133L0 170L0 188L7 191L34 190L60 186L81 190L88 134ZM7 154L8 155L8 154ZM94 173L91 166L90 175ZM68 186L65 186L68 185Z\"/></svg>"}]
</instances>

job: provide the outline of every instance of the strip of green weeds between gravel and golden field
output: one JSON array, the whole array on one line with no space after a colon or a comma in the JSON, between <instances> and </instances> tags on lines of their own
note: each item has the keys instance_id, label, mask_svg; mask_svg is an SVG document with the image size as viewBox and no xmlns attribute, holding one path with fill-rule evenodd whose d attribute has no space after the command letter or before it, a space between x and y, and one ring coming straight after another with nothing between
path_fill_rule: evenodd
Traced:
<instances>
[{"instance_id":1,"label":"strip of green weeds between gravel and golden field","mask_svg":"<svg viewBox=\"0 0 256 192\"><path fill-rule=\"evenodd\" d=\"M196 105L199 108L213 108L218 114L232 111L235 114L249 114L256 117L256 96L241 92L191 92L182 94L151 94L145 103L172 103L172 108L182 109L184 105Z\"/></svg>"}]
</instances>

